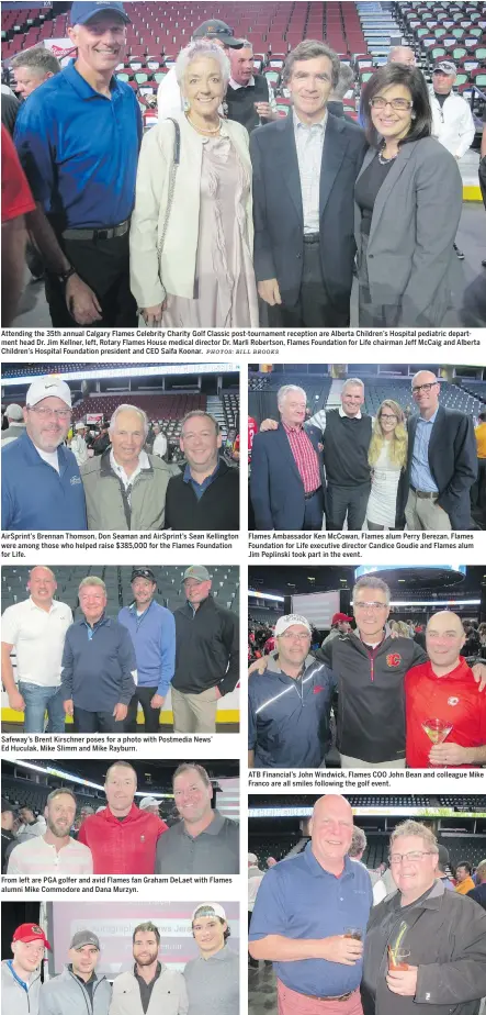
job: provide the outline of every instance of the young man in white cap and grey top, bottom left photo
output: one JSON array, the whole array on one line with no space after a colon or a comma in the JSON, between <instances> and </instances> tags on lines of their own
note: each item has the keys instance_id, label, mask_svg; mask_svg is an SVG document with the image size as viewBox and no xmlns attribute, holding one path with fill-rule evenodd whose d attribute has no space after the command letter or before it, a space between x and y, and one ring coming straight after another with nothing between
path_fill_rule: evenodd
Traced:
<instances>
[{"instance_id":1,"label":"young man in white cap and grey top, bottom left photo","mask_svg":"<svg viewBox=\"0 0 486 1015\"><path fill-rule=\"evenodd\" d=\"M226 913L217 902L202 903L192 914L199 958L184 969L188 1015L235 1015L239 1010L239 957L229 948Z\"/></svg>"}]
</instances>

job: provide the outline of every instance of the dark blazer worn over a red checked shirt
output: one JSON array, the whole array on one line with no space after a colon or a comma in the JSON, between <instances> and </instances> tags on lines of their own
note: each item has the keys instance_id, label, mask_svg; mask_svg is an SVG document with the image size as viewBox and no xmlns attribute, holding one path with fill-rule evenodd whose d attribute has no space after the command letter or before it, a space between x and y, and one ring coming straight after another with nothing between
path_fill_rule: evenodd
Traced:
<instances>
[{"instance_id":1,"label":"dark blazer worn over a red checked shirt","mask_svg":"<svg viewBox=\"0 0 486 1015\"><path fill-rule=\"evenodd\" d=\"M323 483L323 434L317 426L306 426L305 432L317 453ZM279 430L269 430L253 437L250 495L256 528L302 529L304 483L281 423Z\"/></svg>"}]
</instances>

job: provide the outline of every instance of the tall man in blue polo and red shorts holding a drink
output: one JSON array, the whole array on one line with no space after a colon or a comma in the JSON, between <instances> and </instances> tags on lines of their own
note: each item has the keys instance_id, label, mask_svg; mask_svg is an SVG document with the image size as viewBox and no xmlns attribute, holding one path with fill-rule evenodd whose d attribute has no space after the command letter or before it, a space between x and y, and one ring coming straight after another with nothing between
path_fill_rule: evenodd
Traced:
<instances>
[{"instance_id":1,"label":"tall man in blue polo and red shorts holding a drink","mask_svg":"<svg viewBox=\"0 0 486 1015\"><path fill-rule=\"evenodd\" d=\"M362 1015L362 939L373 895L370 874L350 860L352 811L343 796L317 801L312 841L296 857L267 871L248 935L253 959L273 962L279 1015L336 1008ZM327 1004L328 1002L328 1004Z\"/></svg>"}]
</instances>

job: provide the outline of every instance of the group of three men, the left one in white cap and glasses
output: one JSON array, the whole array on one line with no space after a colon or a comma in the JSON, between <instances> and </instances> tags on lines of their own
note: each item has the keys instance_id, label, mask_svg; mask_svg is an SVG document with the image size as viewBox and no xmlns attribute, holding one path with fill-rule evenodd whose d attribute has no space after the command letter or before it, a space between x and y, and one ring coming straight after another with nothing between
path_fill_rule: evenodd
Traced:
<instances>
[{"instance_id":1,"label":"group of three men, the left one in white cap and glasses","mask_svg":"<svg viewBox=\"0 0 486 1015\"><path fill-rule=\"evenodd\" d=\"M66 381L36 378L25 403L5 411L3 529L239 529L239 444L223 447L210 412L187 413L169 456L160 427L135 405L118 405L90 437L82 421L72 431Z\"/></svg>"}]
</instances>

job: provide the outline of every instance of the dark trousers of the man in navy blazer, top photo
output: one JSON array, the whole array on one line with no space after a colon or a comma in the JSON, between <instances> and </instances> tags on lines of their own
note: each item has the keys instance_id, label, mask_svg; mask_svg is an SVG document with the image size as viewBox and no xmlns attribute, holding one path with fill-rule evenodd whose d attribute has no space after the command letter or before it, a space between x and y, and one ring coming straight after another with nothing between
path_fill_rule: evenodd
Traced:
<instances>
[{"instance_id":1,"label":"dark trousers of the man in navy blazer, top photo","mask_svg":"<svg viewBox=\"0 0 486 1015\"><path fill-rule=\"evenodd\" d=\"M295 306L269 308L272 327L349 327L349 304L332 303L323 278L319 242L304 242L301 291Z\"/></svg>"}]
</instances>

